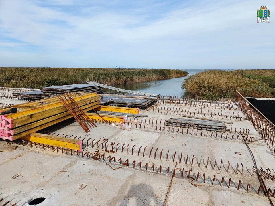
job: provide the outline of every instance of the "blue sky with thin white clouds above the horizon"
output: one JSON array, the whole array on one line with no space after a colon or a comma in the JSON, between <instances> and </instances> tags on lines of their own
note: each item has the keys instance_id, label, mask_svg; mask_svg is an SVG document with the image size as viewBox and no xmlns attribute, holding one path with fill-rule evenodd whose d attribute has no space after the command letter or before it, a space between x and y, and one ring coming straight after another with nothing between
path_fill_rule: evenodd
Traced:
<instances>
[{"instance_id":1,"label":"blue sky with thin white clouds above the horizon","mask_svg":"<svg viewBox=\"0 0 275 206\"><path fill-rule=\"evenodd\" d=\"M275 69L274 56L274 0L0 0L0 67Z\"/></svg>"}]
</instances>

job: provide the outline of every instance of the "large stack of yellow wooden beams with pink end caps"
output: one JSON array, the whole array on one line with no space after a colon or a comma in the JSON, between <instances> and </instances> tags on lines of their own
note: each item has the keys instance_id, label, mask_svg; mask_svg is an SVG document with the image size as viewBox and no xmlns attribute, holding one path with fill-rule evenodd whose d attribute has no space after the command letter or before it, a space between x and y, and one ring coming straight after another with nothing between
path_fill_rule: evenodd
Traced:
<instances>
[{"instance_id":1,"label":"large stack of yellow wooden beams with pink end caps","mask_svg":"<svg viewBox=\"0 0 275 206\"><path fill-rule=\"evenodd\" d=\"M71 96L84 112L99 107L100 94L77 92ZM71 104L70 100L65 101ZM0 138L11 141L72 117L58 97L17 104L13 107L18 111L0 115ZM1 111L8 111L10 108Z\"/></svg>"}]
</instances>

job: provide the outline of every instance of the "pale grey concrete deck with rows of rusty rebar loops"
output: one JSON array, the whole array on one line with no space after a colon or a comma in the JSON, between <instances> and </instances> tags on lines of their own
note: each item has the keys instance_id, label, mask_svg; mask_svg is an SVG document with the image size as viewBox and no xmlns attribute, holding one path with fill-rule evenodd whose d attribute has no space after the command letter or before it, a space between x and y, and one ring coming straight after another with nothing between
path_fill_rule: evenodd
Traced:
<instances>
[{"instance_id":1,"label":"pale grey concrete deck with rows of rusty rebar loops","mask_svg":"<svg viewBox=\"0 0 275 206\"><path fill-rule=\"evenodd\" d=\"M173 171L176 168L166 205L270 205L262 191L257 194L260 183L256 173L253 174L255 165L247 146L242 142L241 134L237 139L240 128L249 129L249 135L245 136L253 136L254 140L258 140L250 142L249 146L258 168L270 168L272 176L275 168L274 156L268 150L265 142L260 140L260 135L248 120L244 120L245 116L237 110L235 105L233 111L194 106L171 107L168 104L158 106L166 108L168 106L168 112L161 114L158 110L154 112L152 110L141 111L141 113L148 114L149 117L147 119L128 118L128 121L139 122L133 123L131 131L97 123L97 127L92 128L91 132L86 134L74 120L61 122L40 131L83 140L85 149L83 157L82 154L77 156L77 152L74 152L73 155L70 152L66 154L65 150L63 154L60 150L57 153L56 148L52 150L47 147L44 149L39 146L34 147L34 145L30 147L30 144L22 146L22 141L17 141L18 148L16 150L0 153L0 199L4 198L0 203L3 205L10 201L7 204L9 206L14 203L27 206L31 200L44 197L45 200L37 205L164 205ZM237 128L236 134L227 131L221 136L222 133L218 132L217 138L216 133L211 136L211 132L203 131L201 133L201 130L198 130L198 134L196 134L196 129L193 132L189 129L188 134L186 128L183 133L182 128L179 133L176 132L178 128L174 128L174 132L172 132L172 127L168 129L165 126L163 129L165 119L181 118L179 112L174 114L174 111L182 111L186 108L197 108L203 112L204 110L212 110L212 112L222 110L223 114L230 112L231 116L233 116L233 112L239 112L235 116L242 117L242 120L236 118L230 120L230 117L226 117L226 115L212 117L216 120L232 121L233 124L226 124L227 128L232 127L232 131ZM197 114L192 115L198 116ZM161 125L160 120L162 120ZM131 123L129 125L131 126ZM155 130L156 126L157 131ZM227 133L228 138L226 138ZM233 139L231 139L232 134L234 134ZM105 138L108 139L107 143L103 140ZM94 140L93 147L92 140ZM97 141L99 141L98 144ZM8 143L0 141L0 144L3 145ZM112 145L115 153L109 152ZM138 154L139 148L141 149ZM93 160L92 155L95 155L96 151L99 151L101 155L104 154L105 160L103 157L99 161ZM160 156L161 151L162 155ZM91 152L92 155L87 158L86 152ZM109 155L110 158L115 157L115 163L109 162ZM121 165L119 159L122 163L129 160L129 166ZM134 161L135 167L133 166ZM139 168L139 162L141 162L141 168ZM228 162L229 169L227 170ZM114 169L121 168L113 170L108 164ZM162 172L160 172L160 166L162 166ZM19 176L16 177L17 175ZM215 181L213 182L214 175ZM16 178L12 179L12 177ZM222 178L224 181L221 186ZM229 188L230 178L232 182ZM241 184L238 190L240 180ZM267 179L265 183L273 193L274 181ZM246 191L247 184L251 186L248 192ZM274 198L270 198L273 202L275 201Z\"/></svg>"}]
</instances>

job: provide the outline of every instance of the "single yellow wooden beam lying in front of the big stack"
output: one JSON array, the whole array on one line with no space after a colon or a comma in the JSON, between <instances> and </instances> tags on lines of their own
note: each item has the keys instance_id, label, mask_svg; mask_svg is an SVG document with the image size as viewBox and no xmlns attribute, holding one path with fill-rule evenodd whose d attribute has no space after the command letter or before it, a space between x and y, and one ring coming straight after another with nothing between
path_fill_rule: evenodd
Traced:
<instances>
[{"instance_id":1,"label":"single yellow wooden beam lying in front of the big stack","mask_svg":"<svg viewBox=\"0 0 275 206\"><path fill-rule=\"evenodd\" d=\"M64 137L58 137L48 134L32 133L20 138L21 140L27 140L49 146L63 147L73 150L82 151L82 140L69 139Z\"/></svg>"}]
</instances>

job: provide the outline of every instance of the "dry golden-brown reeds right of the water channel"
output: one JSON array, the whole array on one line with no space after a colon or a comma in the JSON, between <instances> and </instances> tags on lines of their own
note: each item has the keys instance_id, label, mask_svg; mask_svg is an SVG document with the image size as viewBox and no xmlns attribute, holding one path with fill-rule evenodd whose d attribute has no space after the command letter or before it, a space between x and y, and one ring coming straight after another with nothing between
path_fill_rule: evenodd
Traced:
<instances>
[{"instance_id":1,"label":"dry golden-brown reeds right of the water channel","mask_svg":"<svg viewBox=\"0 0 275 206\"><path fill-rule=\"evenodd\" d=\"M185 79L182 88L192 96L217 100L234 98L235 90L245 97L275 97L275 88L259 79L247 78L245 70L199 72Z\"/></svg>"}]
</instances>

